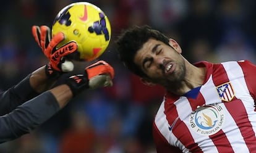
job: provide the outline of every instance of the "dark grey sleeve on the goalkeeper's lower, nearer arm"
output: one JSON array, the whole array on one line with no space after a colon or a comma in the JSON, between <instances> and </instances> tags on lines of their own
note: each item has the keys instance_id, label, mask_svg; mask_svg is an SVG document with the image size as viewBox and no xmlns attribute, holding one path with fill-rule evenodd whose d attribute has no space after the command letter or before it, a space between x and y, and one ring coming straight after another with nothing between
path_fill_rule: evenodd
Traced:
<instances>
[{"instance_id":1,"label":"dark grey sleeve on the goalkeeper's lower, nearer arm","mask_svg":"<svg viewBox=\"0 0 256 153\"><path fill-rule=\"evenodd\" d=\"M30 133L58 110L58 102L49 91L19 105L11 113L0 117L0 143Z\"/></svg>"}]
</instances>

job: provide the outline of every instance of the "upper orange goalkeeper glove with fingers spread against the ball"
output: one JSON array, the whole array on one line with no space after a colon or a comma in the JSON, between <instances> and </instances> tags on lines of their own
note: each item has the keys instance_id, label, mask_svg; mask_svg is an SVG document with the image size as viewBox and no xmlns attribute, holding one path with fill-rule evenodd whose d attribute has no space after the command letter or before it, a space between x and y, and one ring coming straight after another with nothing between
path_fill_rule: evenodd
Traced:
<instances>
[{"instance_id":1,"label":"upper orange goalkeeper glove with fingers spread against the ball","mask_svg":"<svg viewBox=\"0 0 256 153\"><path fill-rule=\"evenodd\" d=\"M33 25L32 34L38 46L40 46L45 56L49 59L49 63L46 65L46 75L48 77L56 77L62 72L73 70L74 64L64 57L77 50L77 43L70 41L57 48L58 44L65 39L65 35L64 33L57 33L51 39L50 28L46 25L41 27Z\"/></svg>"}]
</instances>

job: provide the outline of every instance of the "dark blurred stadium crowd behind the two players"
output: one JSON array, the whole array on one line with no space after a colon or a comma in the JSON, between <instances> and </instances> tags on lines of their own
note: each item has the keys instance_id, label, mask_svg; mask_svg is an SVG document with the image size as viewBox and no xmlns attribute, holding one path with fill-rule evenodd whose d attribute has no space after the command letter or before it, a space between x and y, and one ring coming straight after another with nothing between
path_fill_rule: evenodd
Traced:
<instances>
[{"instance_id":1,"label":"dark blurred stadium crowd behind the two players","mask_svg":"<svg viewBox=\"0 0 256 153\"><path fill-rule=\"evenodd\" d=\"M51 27L70 0L1 1L0 90L18 83L48 61L35 43L32 25ZM147 87L119 62L114 41L132 25L150 25L181 45L190 62L248 59L256 63L256 1L96 0L112 27L99 58L115 68L114 86L85 91L50 120L0 152L153 153L151 125L164 90ZM82 73L88 62L75 63Z\"/></svg>"}]
</instances>

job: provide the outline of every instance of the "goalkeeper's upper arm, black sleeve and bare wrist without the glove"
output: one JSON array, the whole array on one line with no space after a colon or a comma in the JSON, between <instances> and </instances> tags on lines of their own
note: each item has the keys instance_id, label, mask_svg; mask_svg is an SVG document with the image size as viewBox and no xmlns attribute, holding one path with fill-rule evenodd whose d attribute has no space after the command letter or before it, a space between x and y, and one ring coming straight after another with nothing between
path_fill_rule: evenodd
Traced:
<instances>
[{"instance_id":1,"label":"goalkeeper's upper arm, black sleeve and bare wrist without the glove","mask_svg":"<svg viewBox=\"0 0 256 153\"><path fill-rule=\"evenodd\" d=\"M0 115L11 112L18 105L38 96L54 84L56 78L46 77L45 68L46 66L38 68L20 83L0 94Z\"/></svg>"}]
</instances>

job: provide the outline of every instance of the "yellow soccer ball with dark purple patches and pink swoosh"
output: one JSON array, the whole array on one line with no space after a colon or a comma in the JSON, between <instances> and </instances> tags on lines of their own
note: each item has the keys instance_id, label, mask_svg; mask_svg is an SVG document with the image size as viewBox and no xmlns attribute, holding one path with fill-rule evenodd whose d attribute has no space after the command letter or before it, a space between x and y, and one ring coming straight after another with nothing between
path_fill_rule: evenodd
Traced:
<instances>
[{"instance_id":1,"label":"yellow soccer ball with dark purple patches and pink swoosh","mask_svg":"<svg viewBox=\"0 0 256 153\"><path fill-rule=\"evenodd\" d=\"M74 2L59 11L53 22L52 35L64 33L66 38L57 47L75 41L77 51L69 59L91 61L103 54L111 38L108 17L89 2Z\"/></svg>"}]
</instances>

